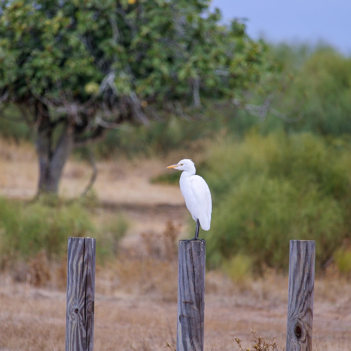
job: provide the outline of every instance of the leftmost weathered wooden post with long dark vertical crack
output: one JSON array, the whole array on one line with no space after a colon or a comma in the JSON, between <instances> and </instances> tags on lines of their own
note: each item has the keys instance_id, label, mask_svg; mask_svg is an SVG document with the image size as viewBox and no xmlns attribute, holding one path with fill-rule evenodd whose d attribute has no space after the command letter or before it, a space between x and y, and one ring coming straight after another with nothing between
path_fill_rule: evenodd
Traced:
<instances>
[{"instance_id":1,"label":"leftmost weathered wooden post with long dark vertical crack","mask_svg":"<svg viewBox=\"0 0 351 351\"><path fill-rule=\"evenodd\" d=\"M95 239L68 238L66 351L93 351Z\"/></svg>"}]
</instances>

